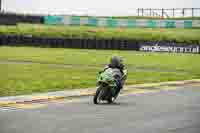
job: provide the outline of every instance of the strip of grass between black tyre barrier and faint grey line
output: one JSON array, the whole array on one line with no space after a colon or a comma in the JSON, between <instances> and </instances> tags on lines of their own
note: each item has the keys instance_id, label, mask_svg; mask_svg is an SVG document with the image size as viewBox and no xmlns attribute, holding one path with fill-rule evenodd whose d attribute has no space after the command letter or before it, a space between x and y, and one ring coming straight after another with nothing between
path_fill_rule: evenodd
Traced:
<instances>
[{"instance_id":1,"label":"strip of grass between black tyre barrier and faint grey line","mask_svg":"<svg viewBox=\"0 0 200 133\"><path fill-rule=\"evenodd\" d=\"M32 61L48 64L103 66L112 55L120 55L131 67L163 70L199 70L198 54L145 53L117 50L0 47L0 60Z\"/></svg>"}]
</instances>

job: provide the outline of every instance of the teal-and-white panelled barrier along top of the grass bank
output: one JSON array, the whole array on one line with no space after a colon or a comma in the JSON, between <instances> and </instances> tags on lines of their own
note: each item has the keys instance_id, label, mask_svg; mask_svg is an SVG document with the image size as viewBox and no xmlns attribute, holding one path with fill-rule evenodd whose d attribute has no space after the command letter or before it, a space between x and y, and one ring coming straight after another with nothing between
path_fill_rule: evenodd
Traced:
<instances>
[{"instance_id":1,"label":"teal-and-white panelled barrier along top of the grass bank","mask_svg":"<svg viewBox=\"0 0 200 133\"><path fill-rule=\"evenodd\" d=\"M45 24L89 25L98 27L193 28L200 20L116 19L79 16L45 16Z\"/></svg>"}]
</instances>

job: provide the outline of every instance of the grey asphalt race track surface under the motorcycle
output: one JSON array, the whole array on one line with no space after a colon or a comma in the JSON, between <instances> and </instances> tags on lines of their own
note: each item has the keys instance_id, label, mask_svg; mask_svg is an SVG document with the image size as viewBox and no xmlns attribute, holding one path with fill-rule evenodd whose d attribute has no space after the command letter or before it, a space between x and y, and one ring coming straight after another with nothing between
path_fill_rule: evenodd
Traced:
<instances>
[{"instance_id":1,"label":"grey asphalt race track surface under the motorcycle","mask_svg":"<svg viewBox=\"0 0 200 133\"><path fill-rule=\"evenodd\" d=\"M1 110L0 133L200 133L200 88L121 96L94 105L92 97L36 109Z\"/></svg>"}]
</instances>

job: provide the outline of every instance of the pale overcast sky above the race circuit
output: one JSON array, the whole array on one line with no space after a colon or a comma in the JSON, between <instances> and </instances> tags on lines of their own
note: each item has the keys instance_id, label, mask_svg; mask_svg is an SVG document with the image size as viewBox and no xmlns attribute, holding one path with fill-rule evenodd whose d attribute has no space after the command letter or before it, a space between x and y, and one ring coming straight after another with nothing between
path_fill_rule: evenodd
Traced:
<instances>
[{"instance_id":1,"label":"pale overcast sky above the race circuit","mask_svg":"<svg viewBox=\"0 0 200 133\"><path fill-rule=\"evenodd\" d=\"M200 0L2 0L3 9L22 13L135 15L137 8L200 7Z\"/></svg>"}]
</instances>

